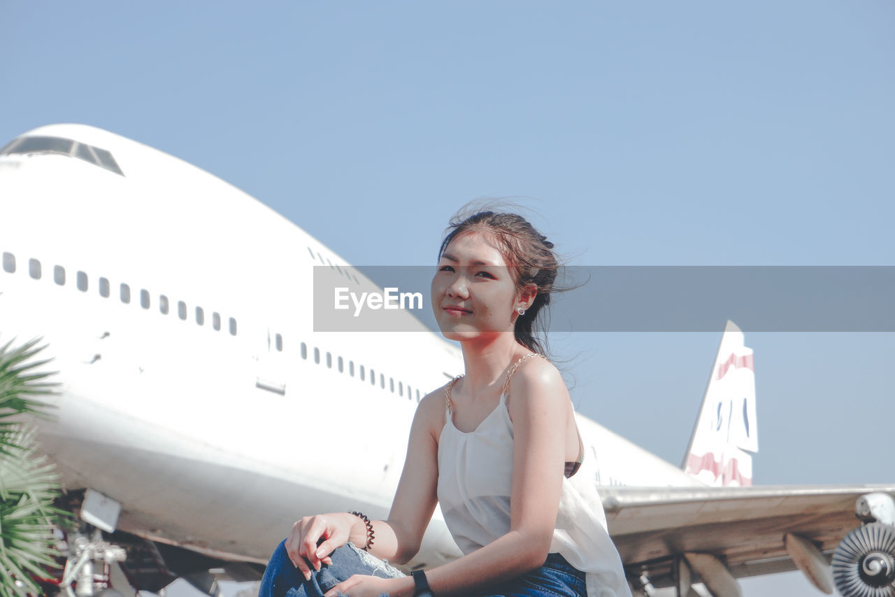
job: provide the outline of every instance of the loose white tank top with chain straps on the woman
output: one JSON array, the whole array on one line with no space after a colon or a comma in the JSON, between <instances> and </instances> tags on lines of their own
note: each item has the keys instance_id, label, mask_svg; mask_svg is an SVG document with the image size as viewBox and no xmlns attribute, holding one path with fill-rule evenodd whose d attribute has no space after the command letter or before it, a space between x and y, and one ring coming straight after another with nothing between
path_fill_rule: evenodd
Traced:
<instances>
[{"instance_id":1,"label":"loose white tank top with chain straps on the woman","mask_svg":"<svg viewBox=\"0 0 895 597\"><path fill-rule=\"evenodd\" d=\"M510 529L513 421L507 391L474 431L457 429L447 406L445 418L439 437L439 505L454 541L468 554ZM578 472L563 479L550 553L586 573L588 597L630 597L590 460L584 458Z\"/></svg>"}]
</instances>

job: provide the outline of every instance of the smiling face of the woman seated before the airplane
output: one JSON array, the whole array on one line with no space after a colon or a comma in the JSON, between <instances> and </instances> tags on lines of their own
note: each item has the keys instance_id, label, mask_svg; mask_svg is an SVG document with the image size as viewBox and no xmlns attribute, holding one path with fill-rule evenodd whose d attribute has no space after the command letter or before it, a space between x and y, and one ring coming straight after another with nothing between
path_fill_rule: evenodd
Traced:
<instances>
[{"instance_id":1,"label":"smiling face of the woman seated before the airplane","mask_svg":"<svg viewBox=\"0 0 895 597\"><path fill-rule=\"evenodd\" d=\"M450 340L513 332L519 292L488 234L467 232L450 242L439 259L431 293L441 333Z\"/></svg>"}]
</instances>

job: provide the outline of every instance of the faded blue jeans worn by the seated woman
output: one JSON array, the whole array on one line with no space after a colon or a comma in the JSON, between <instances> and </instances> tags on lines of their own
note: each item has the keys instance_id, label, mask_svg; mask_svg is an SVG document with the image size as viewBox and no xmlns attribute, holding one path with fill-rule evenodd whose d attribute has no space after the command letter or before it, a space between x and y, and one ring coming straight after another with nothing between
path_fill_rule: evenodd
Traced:
<instances>
[{"instance_id":1,"label":"faded blue jeans worn by the seated woman","mask_svg":"<svg viewBox=\"0 0 895 597\"><path fill-rule=\"evenodd\" d=\"M293 566L286 555L284 544L277 545L268 567L261 579L259 597L322 597L329 589L351 575L375 575L391 578L402 575L386 562L373 558L370 554L346 545L330 555L331 566L321 566L320 572L313 572L311 580L305 580L302 572ZM469 597L586 597L587 587L584 572L572 567L566 558L558 553L547 556L541 567L524 575L491 587Z\"/></svg>"}]
</instances>

